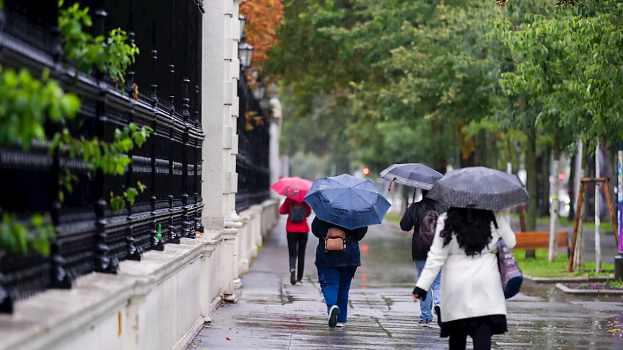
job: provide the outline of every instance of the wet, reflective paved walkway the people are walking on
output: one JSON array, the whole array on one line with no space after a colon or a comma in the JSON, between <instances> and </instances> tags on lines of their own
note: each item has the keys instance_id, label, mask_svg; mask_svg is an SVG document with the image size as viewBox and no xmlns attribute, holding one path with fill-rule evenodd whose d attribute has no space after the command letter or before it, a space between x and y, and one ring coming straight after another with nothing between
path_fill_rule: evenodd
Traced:
<instances>
[{"instance_id":1,"label":"wet, reflective paved walkway the people are walking on","mask_svg":"<svg viewBox=\"0 0 623 350\"><path fill-rule=\"evenodd\" d=\"M238 302L221 305L188 349L447 349L439 328L417 326L410 234L391 224L369 229L348 324L330 329L313 265L318 241L310 235L305 283L292 286L284 226L282 220L242 277ZM553 285L526 284L508 311L509 332L493 337L493 349L623 349L613 332L623 328L623 298L570 297Z\"/></svg>"}]
</instances>

